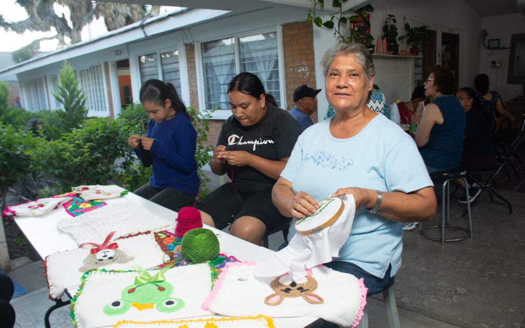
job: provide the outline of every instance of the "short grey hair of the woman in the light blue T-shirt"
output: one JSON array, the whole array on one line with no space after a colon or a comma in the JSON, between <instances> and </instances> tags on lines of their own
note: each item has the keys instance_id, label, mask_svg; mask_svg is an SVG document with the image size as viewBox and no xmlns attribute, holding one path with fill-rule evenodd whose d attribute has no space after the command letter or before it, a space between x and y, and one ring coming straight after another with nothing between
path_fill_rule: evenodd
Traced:
<instances>
[{"instance_id":1,"label":"short grey hair of the woman in the light blue T-shirt","mask_svg":"<svg viewBox=\"0 0 525 328\"><path fill-rule=\"evenodd\" d=\"M368 48L360 43L339 43L330 47L323 55L321 67L323 68L324 79L327 78L328 70L330 69L330 65L332 65L335 57L340 55L354 55L355 59L359 62L361 67L363 67L367 81L370 81L375 75L374 61Z\"/></svg>"}]
</instances>

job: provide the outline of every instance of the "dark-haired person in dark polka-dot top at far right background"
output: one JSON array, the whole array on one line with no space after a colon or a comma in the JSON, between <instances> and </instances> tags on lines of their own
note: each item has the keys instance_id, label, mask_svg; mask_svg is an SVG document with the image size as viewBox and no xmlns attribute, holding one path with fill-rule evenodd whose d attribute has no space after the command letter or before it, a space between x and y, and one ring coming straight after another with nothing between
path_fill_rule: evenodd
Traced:
<instances>
[{"instance_id":1,"label":"dark-haired person in dark polka-dot top at far right background","mask_svg":"<svg viewBox=\"0 0 525 328\"><path fill-rule=\"evenodd\" d=\"M499 93L496 91L489 92L489 87L490 81L486 74L478 74L474 78L474 88L477 91L476 99L479 102L480 109L489 113L491 119L490 130L494 131L496 115L501 115L511 122L516 121L516 118L503 107Z\"/></svg>"}]
</instances>

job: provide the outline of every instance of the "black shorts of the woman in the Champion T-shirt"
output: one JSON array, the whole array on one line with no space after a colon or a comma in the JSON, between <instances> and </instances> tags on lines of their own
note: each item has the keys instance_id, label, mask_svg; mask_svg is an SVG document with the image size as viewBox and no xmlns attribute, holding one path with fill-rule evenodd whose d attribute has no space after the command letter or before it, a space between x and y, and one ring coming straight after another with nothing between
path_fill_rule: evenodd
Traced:
<instances>
[{"instance_id":1,"label":"black shorts of the woman in the Champion T-shirt","mask_svg":"<svg viewBox=\"0 0 525 328\"><path fill-rule=\"evenodd\" d=\"M224 229L241 216L252 216L272 231L289 221L271 202L271 190L250 195L239 193L232 184L224 184L198 202L195 208L209 214L217 229Z\"/></svg>"}]
</instances>

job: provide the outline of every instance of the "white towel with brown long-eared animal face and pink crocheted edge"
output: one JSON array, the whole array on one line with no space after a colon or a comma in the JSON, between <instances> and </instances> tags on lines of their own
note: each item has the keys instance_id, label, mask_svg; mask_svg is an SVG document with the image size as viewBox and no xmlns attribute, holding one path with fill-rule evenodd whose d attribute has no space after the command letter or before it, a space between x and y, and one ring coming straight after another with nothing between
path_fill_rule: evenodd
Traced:
<instances>
[{"instance_id":1,"label":"white towel with brown long-eared animal face and pink crocheted edge","mask_svg":"<svg viewBox=\"0 0 525 328\"><path fill-rule=\"evenodd\" d=\"M316 267L306 282L280 285L278 278L255 278L254 269L254 262L226 264L203 308L229 316L317 316L343 327L359 324L366 304L362 279Z\"/></svg>"}]
</instances>

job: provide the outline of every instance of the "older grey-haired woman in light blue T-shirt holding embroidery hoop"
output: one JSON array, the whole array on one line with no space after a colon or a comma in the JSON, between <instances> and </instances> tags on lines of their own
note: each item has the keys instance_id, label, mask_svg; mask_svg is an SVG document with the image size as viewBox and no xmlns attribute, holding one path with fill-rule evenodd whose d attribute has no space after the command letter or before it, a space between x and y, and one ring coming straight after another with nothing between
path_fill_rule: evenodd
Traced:
<instances>
[{"instance_id":1,"label":"older grey-haired woman in light blue T-shirt holding embroidery hoop","mask_svg":"<svg viewBox=\"0 0 525 328\"><path fill-rule=\"evenodd\" d=\"M367 107L374 83L370 51L358 43L337 44L321 65L326 97L337 115L299 136L272 199L282 215L304 218L316 213L325 197L353 195L350 236L339 257L324 265L363 278L372 295L385 289L401 266L400 222L434 218L436 196L411 137ZM290 227L288 239L295 234Z\"/></svg>"}]
</instances>

